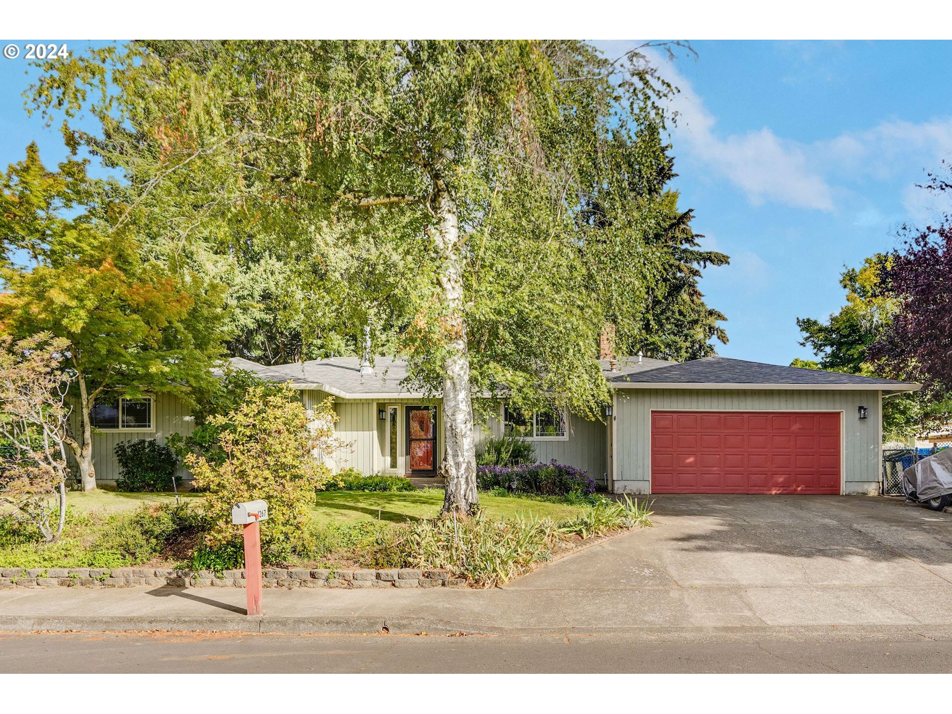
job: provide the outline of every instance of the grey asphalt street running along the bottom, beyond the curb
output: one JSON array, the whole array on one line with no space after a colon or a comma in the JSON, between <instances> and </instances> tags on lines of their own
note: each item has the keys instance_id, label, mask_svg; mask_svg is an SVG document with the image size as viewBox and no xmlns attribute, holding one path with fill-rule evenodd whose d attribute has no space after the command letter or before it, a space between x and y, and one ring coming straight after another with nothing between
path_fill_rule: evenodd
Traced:
<instances>
[{"instance_id":1,"label":"grey asphalt street running along the bottom, beyond the curb","mask_svg":"<svg viewBox=\"0 0 952 714\"><path fill-rule=\"evenodd\" d=\"M0 672L948 673L952 640L9 632L0 634Z\"/></svg>"}]
</instances>

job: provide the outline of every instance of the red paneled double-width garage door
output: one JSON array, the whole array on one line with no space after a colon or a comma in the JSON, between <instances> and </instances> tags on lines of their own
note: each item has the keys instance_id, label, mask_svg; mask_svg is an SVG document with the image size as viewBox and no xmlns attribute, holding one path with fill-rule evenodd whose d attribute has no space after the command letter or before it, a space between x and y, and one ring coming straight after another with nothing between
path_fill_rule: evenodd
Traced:
<instances>
[{"instance_id":1,"label":"red paneled double-width garage door","mask_svg":"<svg viewBox=\"0 0 952 714\"><path fill-rule=\"evenodd\" d=\"M840 413L654 411L654 493L840 493Z\"/></svg>"}]
</instances>

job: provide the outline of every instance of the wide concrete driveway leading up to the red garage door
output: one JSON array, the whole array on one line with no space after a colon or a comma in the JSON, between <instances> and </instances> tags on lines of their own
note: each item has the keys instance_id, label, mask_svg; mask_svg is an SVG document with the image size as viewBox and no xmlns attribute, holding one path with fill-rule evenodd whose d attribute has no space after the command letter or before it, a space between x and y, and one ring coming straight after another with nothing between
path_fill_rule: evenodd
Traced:
<instances>
[{"instance_id":1,"label":"wide concrete driveway leading up to the red garage door","mask_svg":"<svg viewBox=\"0 0 952 714\"><path fill-rule=\"evenodd\" d=\"M508 588L559 592L563 612L598 606L603 626L952 625L945 513L854 496L664 495L653 508L653 528Z\"/></svg>"}]
</instances>

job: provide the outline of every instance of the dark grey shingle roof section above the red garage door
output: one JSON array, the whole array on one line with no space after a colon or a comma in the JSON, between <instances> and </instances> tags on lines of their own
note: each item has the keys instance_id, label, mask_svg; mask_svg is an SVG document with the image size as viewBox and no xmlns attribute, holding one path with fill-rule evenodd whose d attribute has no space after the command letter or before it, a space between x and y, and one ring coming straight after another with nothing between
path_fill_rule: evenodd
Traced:
<instances>
[{"instance_id":1,"label":"dark grey shingle roof section above the red garage door","mask_svg":"<svg viewBox=\"0 0 952 714\"><path fill-rule=\"evenodd\" d=\"M816 387L870 387L901 390L918 388L908 382L899 382L878 377L861 377L856 374L827 372L821 369L782 367L763 362L734 360L728 357L704 357L680 364L655 367L629 374L620 374L609 383L624 387L627 384L670 385L793 385Z\"/></svg>"}]
</instances>

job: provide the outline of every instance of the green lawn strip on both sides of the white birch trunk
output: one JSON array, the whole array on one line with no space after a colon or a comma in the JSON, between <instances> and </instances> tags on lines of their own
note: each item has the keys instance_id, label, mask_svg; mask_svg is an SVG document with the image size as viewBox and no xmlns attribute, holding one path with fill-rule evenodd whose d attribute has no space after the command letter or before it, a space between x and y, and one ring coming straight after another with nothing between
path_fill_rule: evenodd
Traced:
<instances>
[{"instance_id":1,"label":"green lawn strip on both sides of the white birch trunk","mask_svg":"<svg viewBox=\"0 0 952 714\"><path fill-rule=\"evenodd\" d=\"M481 493L480 504L492 518L512 518L516 515L548 516L562 521L576 515L579 506L552 504L531 498L489 496ZM434 518L443 507L443 491L426 488L399 493L376 493L362 491L327 491L317 494L314 518L324 522L347 523L376 520L405 523Z\"/></svg>"}]
</instances>

